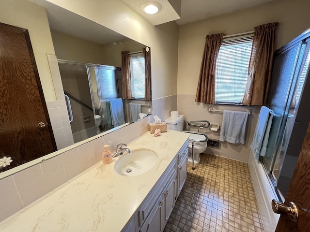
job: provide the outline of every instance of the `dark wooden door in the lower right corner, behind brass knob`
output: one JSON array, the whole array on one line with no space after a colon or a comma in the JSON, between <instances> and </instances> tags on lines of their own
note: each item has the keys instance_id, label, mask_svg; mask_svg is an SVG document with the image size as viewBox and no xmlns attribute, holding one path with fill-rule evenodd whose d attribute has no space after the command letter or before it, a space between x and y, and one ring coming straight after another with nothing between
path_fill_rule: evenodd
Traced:
<instances>
[{"instance_id":1,"label":"dark wooden door in the lower right corner, behind brass knob","mask_svg":"<svg viewBox=\"0 0 310 232\"><path fill-rule=\"evenodd\" d=\"M288 202L296 204L298 221L293 222L287 215L281 215L276 232L310 231L310 124L285 199L286 205Z\"/></svg>"}]
</instances>

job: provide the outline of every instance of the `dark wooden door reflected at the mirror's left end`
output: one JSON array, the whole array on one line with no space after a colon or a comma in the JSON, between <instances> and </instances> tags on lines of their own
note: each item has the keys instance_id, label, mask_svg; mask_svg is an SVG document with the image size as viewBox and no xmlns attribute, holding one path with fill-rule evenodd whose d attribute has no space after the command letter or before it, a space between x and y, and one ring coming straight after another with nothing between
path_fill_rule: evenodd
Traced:
<instances>
[{"instance_id":1,"label":"dark wooden door reflected at the mirror's left end","mask_svg":"<svg viewBox=\"0 0 310 232\"><path fill-rule=\"evenodd\" d=\"M13 160L0 172L55 150L28 30L0 23L0 158Z\"/></svg>"}]
</instances>

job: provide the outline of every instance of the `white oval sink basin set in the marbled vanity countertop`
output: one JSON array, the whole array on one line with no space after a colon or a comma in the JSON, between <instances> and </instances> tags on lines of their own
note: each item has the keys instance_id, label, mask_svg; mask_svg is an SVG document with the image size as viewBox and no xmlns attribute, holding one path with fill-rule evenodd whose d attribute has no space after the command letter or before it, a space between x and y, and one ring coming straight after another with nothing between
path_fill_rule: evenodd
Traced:
<instances>
[{"instance_id":1,"label":"white oval sink basin set in the marbled vanity countertop","mask_svg":"<svg viewBox=\"0 0 310 232\"><path fill-rule=\"evenodd\" d=\"M136 149L122 155L114 170L124 176L137 176L151 170L157 163L157 154L149 149Z\"/></svg>"}]
</instances>

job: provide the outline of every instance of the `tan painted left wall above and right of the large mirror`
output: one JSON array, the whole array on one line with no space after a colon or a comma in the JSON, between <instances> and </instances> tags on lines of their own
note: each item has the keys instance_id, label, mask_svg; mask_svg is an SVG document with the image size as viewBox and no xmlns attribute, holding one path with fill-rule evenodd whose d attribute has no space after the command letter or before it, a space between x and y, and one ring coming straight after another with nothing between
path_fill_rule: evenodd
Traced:
<instances>
[{"instance_id":1,"label":"tan painted left wall above and right of the large mirror","mask_svg":"<svg viewBox=\"0 0 310 232\"><path fill-rule=\"evenodd\" d=\"M46 1L150 46L153 99L176 94L178 25L175 22L154 27L120 0L78 1L78 4L76 0Z\"/></svg>"}]
</instances>

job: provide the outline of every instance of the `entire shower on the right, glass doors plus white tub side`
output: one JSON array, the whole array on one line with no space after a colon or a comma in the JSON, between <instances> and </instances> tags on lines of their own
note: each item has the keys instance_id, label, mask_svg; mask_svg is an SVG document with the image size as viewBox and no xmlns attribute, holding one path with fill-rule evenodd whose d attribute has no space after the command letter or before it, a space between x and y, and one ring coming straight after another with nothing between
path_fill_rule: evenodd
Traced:
<instances>
[{"instance_id":1,"label":"entire shower on the right, glass doors plus white tub side","mask_svg":"<svg viewBox=\"0 0 310 232\"><path fill-rule=\"evenodd\" d=\"M250 154L248 167L264 231L275 231L279 215L271 200L284 202L310 121L310 30L274 53L266 106L274 111L265 156Z\"/></svg>"}]
</instances>

